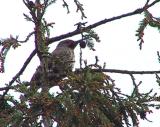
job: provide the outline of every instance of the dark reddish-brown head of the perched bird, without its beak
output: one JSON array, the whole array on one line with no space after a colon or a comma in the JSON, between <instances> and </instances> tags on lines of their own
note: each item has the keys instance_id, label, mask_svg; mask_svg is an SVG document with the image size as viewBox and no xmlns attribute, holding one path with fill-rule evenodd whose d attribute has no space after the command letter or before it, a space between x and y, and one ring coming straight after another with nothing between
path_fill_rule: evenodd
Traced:
<instances>
[{"instance_id":1,"label":"dark reddish-brown head of the perched bird, without its beak","mask_svg":"<svg viewBox=\"0 0 160 127\"><path fill-rule=\"evenodd\" d=\"M73 41L73 40L64 40L64 41L61 41L57 47L68 47L68 48L71 48L71 49L74 49L76 46L77 46L78 42L76 41Z\"/></svg>"}]
</instances>

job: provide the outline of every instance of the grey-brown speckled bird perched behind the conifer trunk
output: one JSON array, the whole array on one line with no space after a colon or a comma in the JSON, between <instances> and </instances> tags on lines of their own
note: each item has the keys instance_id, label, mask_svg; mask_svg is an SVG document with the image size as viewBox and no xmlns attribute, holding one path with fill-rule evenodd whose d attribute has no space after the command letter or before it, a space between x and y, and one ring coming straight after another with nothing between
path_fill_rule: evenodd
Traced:
<instances>
[{"instance_id":1,"label":"grey-brown speckled bird perched behind the conifer trunk","mask_svg":"<svg viewBox=\"0 0 160 127\"><path fill-rule=\"evenodd\" d=\"M49 86L54 86L58 81L65 78L68 73L72 72L75 63L74 49L80 42L70 39L63 40L59 42L51 56L47 58L48 69L46 77ZM31 78L31 88L37 88L42 85L42 75L42 65L39 65Z\"/></svg>"}]
</instances>

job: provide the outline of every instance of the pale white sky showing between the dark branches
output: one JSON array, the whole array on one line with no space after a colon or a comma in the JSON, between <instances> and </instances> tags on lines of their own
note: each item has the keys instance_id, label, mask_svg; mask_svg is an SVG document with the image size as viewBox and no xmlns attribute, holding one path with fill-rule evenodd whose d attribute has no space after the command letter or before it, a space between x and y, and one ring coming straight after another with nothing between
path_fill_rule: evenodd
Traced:
<instances>
[{"instance_id":1,"label":"pale white sky showing between the dark branches","mask_svg":"<svg viewBox=\"0 0 160 127\"><path fill-rule=\"evenodd\" d=\"M69 0L66 0L69 1ZM111 18L142 7L145 0L80 0L84 4L87 19L84 22L89 24L95 23L105 18ZM68 33L76 29L74 24L81 21L80 13L76 13L75 5L70 2L70 14L67 14L65 8L62 7L62 2L57 0L57 4L49 7L46 13L48 22L55 22L54 28L51 31L52 36ZM154 16L160 17L160 4L152 7L150 11ZM0 38L9 37L10 34L14 37L19 35L19 38L24 40L24 37L33 31L33 25L26 22L23 13L28 13L22 3L22 0L3 0L0 4ZM157 59L156 52L160 50L160 36L156 29L147 27L145 31L143 48L139 50L139 42L135 36L138 24L142 20L143 15L135 15L120 20L116 20L95 30L100 36L100 43L95 44L96 51L84 49L83 58L87 59L88 63L94 62L94 56L99 57L100 63L106 62L106 68L110 69L125 69L125 70L159 70L160 63ZM83 22L82 21L82 22ZM72 39L79 39L80 36ZM55 44L51 45L50 50L55 48ZM0 74L0 84L8 83L12 77L22 67L25 59L34 49L32 39L27 44L22 44L17 50L11 50L8 54L5 64L5 74ZM79 67L78 57L79 49L77 48L76 67ZM38 59L35 57L28 68L22 75L22 80L30 80L36 67ZM109 74L116 80L118 87L122 88L125 93L132 92L132 80L128 75ZM141 91L148 92L151 88L159 91L156 85L155 75L138 75L135 76L136 81L142 80ZM160 93L160 92L159 92ZM141 121L140 127L159 127L160 116L157 110L153 115L148 115L148 119L153 123ZM159 116L159 118L158 118Z\"/></svg>"}]
</instances>

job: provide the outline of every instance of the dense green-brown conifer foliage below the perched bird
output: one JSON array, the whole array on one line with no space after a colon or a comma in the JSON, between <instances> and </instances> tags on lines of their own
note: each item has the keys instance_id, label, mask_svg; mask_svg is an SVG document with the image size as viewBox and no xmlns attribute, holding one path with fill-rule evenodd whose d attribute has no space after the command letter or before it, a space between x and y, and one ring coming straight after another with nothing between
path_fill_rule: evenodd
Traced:
<instances>
[{"instance_id":1,"label":"dense green-brown conifer foliage below the perched bird","mask_svg":"<svg viewBox=\"0 0 160 127\"><path fill-rule=\"evenodd\" d=\"M137 126L138 116L147 119L150 107L159 109L154 104L159 97L152 91L139 93L135 87L131 95L125 95L110 76L94 71L99 67L89 65L69 74L57 84L61 92L56 95L35 92L19 82L15 90L21 94L20 100L6 96L0 125L40 127L45 115L51 123L57 122L57 127L129 127L130 119Z\"/></svg>"}]
</instances>

